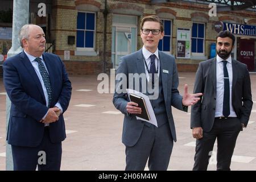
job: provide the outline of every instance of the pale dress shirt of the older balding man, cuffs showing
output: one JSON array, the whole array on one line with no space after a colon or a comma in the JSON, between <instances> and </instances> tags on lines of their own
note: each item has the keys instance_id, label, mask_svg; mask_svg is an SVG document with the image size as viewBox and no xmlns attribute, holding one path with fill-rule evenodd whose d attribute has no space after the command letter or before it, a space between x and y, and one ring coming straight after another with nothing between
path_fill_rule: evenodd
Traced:
<instances>
[{"instance_id":1,"label":"pale dress shirt of the older balding man, cuffs showing","mask_svg":"<svg viewBox=\"0 0 256 182\"><path fill-rule=\"evenodd\" d=\"M49 105L49 103L48 103L48 93L47 93L47 90L46 90L46 86L44 85L44 81L43 81L43 78L42 78L42 76L41 76L41 73L40 73L40 71L39 71L38 62L35 61L36 57L30 55L30 54L27 53L26 51L24 51L24 52L26 53L26 55L27 55L28 59L30 60L32 66L34 67L35 72L36 72L36 75L38 75L38 78L39 78L39 80L40 80L40 84L42 85L42 88L43 88L44 97L46 98L46 106L48 106L48 105ZM47 71L47 73L49 74L49 72L48 72L48 70L47 70L47 67L46 67L46 63L44 63L44 60L43 60L43 56L42 56L42 55L40 56L40 59L42 59L42 63L44 64L44 67L46 68L46 71ZM62 107L61 107L61 105L60 105L59 102L57 102L57 103L55 104L55 106L59 107L59 109L61 110L61 113L63 113L63 109L62 109ZM47 111L47 113L44 115L44 117L43 117L42 119L46 118L46 115L47 115L47 114L48 114L48 111ZM48 126L48 125L47 125L48 123L45 123L45 124L46 124L46 126Z\"/></svg>"}]
</instances>

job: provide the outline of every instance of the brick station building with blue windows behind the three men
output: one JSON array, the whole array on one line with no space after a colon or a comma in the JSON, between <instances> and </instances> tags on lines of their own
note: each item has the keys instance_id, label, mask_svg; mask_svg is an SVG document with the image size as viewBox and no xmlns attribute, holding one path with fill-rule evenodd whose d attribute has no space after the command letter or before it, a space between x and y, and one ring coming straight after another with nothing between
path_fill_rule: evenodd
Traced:
<instances>
[{"instance_id":1,"label":"brick station building with blue windows behind the three men","mask_svg":"<svg viewBox=\"0 0 256 182\"><path fill-rule=\"evenodd\" d=\"M38 5L42 2L46 16L40 17ZM13 1L0 3L0 12L8 14ZM214 14L214 5L221 11ZM175 56L179 72L196 72L201 61L216 55L220 29L236 36L233 59L256 72L256 9L245 9L246 5L246 1L218 0L31 0L30 23L43 28L47 52L61 57L69 75L109 73L117 68L122 56L143 46L140 24L147 15L163 20L164 38L158 48ZM11 46L11 27L11 22L0 19L2 59Z\"/></svg>"}]
</instances>

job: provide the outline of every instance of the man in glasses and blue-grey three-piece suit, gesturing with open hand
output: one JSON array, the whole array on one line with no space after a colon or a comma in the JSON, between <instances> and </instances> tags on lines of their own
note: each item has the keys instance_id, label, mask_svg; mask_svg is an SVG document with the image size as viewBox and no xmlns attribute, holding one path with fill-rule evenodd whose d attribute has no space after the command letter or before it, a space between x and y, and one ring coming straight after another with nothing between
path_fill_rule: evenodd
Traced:
<instances>
[{"instance_id":1,"label":"man in glasses and blue-grey three-piece suit, gesturing with open hand","mask_svg":"<svg viewBox=\"0 0 256 182\"><path fill-rule=\"evenodd\" d=\"M141 23L143 48L122 57L117 69L117 75L125 74L127 80L131 74L147 77L137 80L140 88L137 91L142 92L143 85L148 81L148 84L152 84L152 88L159 93L158 98L150 100L158 123L156 127L136 119L135 114L141 113L141 108L137 107L137 103L130 102L127 93L118 92L117 86L122 80L115 82L113 104L125 115L122 142L126 146L126 170L144 170L147 159L150 170L167 170L173 140L176 142L171 106L187 111L187 106L195 104L200 99L197 96L201 96L201 94L188 94L187 85L183 97L180 96L177 90L179 80L175 59L158 51L158 42L163 36L163 23L158 16L144 17ZM135 82L136 80L129 80L127 85L123 86L135 89Z\"/></svg>"}]
</instances>

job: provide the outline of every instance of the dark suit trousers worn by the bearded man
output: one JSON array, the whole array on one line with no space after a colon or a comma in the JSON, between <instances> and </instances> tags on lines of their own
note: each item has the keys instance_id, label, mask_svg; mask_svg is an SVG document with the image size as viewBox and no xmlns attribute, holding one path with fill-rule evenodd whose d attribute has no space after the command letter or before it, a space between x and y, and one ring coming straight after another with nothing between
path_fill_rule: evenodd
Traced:
<instances>
[{"instance_id":1,"label":"dark suit trousers worn by the bearded man","mask_svg":"<svg viewBox=\"0 0 256 182\"><path fill-rule=\"evenodd\" d=\"M242 125L238 118L215 118L212 130L203 132L203 138L196 140L193 170L207 170L217 138L217 170L229 171L237 136L241 129Z\"/></svg>"}]
</instances>

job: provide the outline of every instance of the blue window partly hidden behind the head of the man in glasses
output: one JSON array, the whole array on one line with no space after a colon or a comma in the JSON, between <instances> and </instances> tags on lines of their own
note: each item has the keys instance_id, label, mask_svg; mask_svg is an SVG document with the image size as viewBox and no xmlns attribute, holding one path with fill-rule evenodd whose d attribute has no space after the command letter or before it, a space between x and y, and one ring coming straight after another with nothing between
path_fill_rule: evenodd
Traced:
<instances>
[{"instance_id":1,"label":"blue window partly hidden behind the head of the man in glasses","mask_svg":"<svg viewBox=\"0 0 256 182\"><path fill-rule=\"evenodd\" d=\"M164 24L164 37L158 43L159 51L171 52L172 22L162 19Z\"/></svg>"}]
</instances>

